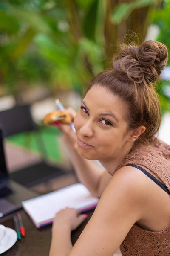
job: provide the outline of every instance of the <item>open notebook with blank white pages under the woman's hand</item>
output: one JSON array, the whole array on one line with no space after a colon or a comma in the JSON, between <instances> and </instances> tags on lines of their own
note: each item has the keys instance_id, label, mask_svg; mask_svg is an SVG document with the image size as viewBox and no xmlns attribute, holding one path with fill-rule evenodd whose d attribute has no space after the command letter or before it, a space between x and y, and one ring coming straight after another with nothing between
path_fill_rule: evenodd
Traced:
<instances>
[{"instance_id":1,"label":"open notebook with blank white pages under the woman's hand","mask_svg":"<svg viewBox=\"0 0 170 256\"><path fill-rule=\"evenodd\" d=\"M94 209L99 201L81 183L22 202L22 206L37 228L52 223L55 214L65 207L85 212Z\"/></svg>"}]
</instances>

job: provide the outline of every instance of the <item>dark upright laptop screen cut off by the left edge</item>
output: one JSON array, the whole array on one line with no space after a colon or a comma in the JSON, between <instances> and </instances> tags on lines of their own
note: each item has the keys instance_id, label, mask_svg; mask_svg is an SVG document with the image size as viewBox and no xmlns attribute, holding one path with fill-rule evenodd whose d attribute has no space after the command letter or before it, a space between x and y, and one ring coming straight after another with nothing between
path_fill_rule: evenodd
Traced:
<instances>
[{"instance_id":1,"label":"dark upright laptop screen cut off by the left edge","mask_svg":"<svg viewBox=\"0 0 170 256\"><path fill-rule=\"evenodd\" d=\"M3 127L0 126L0 189L4 188L8 182L8 172L3 146Z\"/></svg>"}]
</instances>

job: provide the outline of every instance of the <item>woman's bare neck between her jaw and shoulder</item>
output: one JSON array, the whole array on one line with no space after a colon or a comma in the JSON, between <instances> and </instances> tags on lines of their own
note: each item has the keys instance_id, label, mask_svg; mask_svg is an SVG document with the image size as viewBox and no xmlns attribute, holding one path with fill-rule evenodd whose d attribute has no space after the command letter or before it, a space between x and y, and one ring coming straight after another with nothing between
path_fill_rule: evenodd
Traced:
<instances>
[{"instance_id":1,"label":"woman's bare neck between her jaw and shoulder","mask_svg":"<svg viewBox=\"0 0 170 256\"><path fill-rule=\"evenodd\" d=\"M133 148L133 144L127 143L119 150L119 152L116 155L109 158L105 158L105 159L99 159L99 162L108 172L113 174L117 166L119 166L119 164L122 163L122 161L125 159L127 154L130 153L132 148Z\"/></svg>"}]
</instances>

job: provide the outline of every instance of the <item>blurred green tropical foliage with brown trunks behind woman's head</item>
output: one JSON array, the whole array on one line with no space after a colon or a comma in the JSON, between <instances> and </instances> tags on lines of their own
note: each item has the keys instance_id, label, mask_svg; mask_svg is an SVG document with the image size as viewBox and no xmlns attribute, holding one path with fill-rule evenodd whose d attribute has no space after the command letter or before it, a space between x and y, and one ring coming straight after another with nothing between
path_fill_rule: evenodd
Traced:
<instances>
[{"instance_id":1,"label":"blurred green tropical foliage with brown trunks behind woman's head","mask_svg":"<svg viewBox=\"0 0 170 256\"><path fill-rule=\"evenodd\" d=\"M170 47L170 0L1 0L0 95L44 86L82 95L88 81L108 67L119 42L144 41L148 27ZM162 109L169 98L158 93Z\"/></svg>"}]
</instances>

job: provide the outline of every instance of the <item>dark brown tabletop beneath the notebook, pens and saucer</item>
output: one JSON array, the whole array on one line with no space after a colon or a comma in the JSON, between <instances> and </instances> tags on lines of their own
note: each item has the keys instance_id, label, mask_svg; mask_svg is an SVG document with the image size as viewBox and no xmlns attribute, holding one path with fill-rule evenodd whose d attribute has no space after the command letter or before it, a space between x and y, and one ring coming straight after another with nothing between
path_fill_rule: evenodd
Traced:
<instances>
[{"instance_id":1,"label":"dark brown tabletop beneath the notebook, pens and saucer","mask_svg":"<svg viewBox=\"0 0 170 256\"><path fill-rule=\"evenodd\" d=\"M71 239L72 243L75 244L79 235L82 233L82 230L85 228L85 225L88 223L94 211L87 212L88 218L86 221L81 224L72 232ZM42 227L41 229L37 229L34 224L31 222L30 218L24 212L24 210L20 210L20 213L23 218L23 225L26 229L26 237L22 238L20 241L17 241L13 247L11 247L8 251L3 253L3 256L48 256L51 244L51 225L46 227ZM0 218L0 224L5 227L10 227L14 229L14 221L13 216L15 213L11 215L7 215L6 217Z\"/></svg>"}]
</instances>

